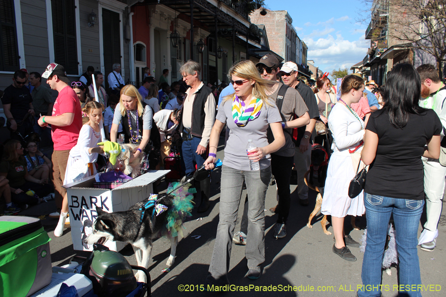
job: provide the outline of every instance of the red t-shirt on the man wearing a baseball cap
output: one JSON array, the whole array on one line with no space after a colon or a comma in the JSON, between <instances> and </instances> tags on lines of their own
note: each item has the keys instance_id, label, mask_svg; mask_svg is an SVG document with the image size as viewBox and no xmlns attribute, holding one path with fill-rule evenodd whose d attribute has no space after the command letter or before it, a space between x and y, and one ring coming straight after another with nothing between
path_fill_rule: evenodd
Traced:
<instances>
[{"instance_id":1,"label":"red t-shirt on the man wearing a baseball cap","mask_svg":"<svg viewBox=\"0 0 446 297\"><path fill-rule=\"evenodd\" d=\"M53 106L52 116L64 113L74 113L73 123L69 126L59 127L52 125L54 150L67 150L77 144L79 131L82 128L82 111L79 99L74 90L66 86L59 92Z\"/></svg>"}]
</instances>

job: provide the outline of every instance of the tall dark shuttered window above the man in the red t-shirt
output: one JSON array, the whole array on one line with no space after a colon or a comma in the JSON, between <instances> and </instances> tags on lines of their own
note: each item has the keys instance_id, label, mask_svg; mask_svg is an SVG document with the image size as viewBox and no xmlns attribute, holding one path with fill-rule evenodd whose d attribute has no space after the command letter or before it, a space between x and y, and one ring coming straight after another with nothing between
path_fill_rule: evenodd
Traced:
<instances>
[{"instance_id":1,"label":"tall dark shuttered window above the man in the red t-shirt","mask_svg":"<svg viewBox=\"0 0 446 297\"><path fill-rule=\"evenodd\" d=\"M75 9L74 0L51 0L55 62L78 75Z\"/></svg>"}]
</instances>

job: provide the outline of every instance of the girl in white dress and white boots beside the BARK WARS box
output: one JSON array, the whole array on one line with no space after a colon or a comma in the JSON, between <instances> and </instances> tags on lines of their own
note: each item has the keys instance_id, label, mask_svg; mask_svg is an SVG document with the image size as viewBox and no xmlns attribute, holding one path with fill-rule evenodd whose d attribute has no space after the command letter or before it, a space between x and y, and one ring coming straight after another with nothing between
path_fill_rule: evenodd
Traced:
<instances>
[{"instance_id":1,"label":"girl in white dress and white boots beside the BARK WARS box","mask_svg":"<svg viewBox=\"0 0 446 297\"><path fill-rule=\"evenodd\" d=\"M77 144L70 150L66 165L65 179L63 180L64 185L96 174L96 167L93 163L98 159L98 154L104 152L103 146L97 147L98 143L101 141L99 123L102 121L103 110L104 105L96 101L88 102L84 108L82 108L82 112L87 114L89 121L82 126ZM62 235L67 213L68 199L65 194L65 197L63 197L59 222L54 230L54 235L56 237Z\"/></svg>"}]
</instances>

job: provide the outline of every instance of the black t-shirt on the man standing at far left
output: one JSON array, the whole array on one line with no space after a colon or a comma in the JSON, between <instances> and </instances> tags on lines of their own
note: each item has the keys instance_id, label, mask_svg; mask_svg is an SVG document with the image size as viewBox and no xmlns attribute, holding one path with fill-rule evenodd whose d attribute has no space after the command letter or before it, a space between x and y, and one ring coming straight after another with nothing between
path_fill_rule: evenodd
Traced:
<instances>
[{"instance_id":1,"label":"black t-shirt on the man standing at far left","mask_svg":"<svg viewBox=\"0 0 446 297\"><path fill-rule=\"evenodd\" d=\"M15 121L21 121L29 110L29 103L33 99L29 93L29 89L23 86L20 89L10 85L4 90L4 95L1 98L1 103L11 104L11 114Z\"/></svg>"}]
</instances>

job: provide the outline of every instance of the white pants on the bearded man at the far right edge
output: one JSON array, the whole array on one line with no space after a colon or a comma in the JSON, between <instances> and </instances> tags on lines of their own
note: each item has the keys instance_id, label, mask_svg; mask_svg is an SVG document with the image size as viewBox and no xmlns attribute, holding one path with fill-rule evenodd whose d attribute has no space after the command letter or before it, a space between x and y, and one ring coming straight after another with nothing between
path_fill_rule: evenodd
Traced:
<instances>
[{"instance_id":1,"label":"white pants on the bearded man at the far right edge","mask_svg":"<svg viewBox=\"0 0 446 297\"><path fill-rule=\"evenodd\" d=\"M437 159L422 157L424 164L424 193L426 194L427 221L424 228L436 232L442 214L442 199L445 192L446 167Z\"/></svg>"}]
</instances>

